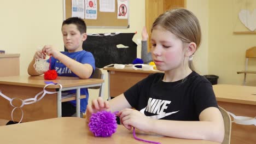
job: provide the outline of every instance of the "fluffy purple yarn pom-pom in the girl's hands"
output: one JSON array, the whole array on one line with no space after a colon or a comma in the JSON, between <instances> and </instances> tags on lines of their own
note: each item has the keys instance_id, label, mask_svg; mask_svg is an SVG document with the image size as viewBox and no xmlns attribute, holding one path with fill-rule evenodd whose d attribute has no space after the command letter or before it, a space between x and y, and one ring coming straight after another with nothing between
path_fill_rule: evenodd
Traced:
<instances>
[{"instance_id":1,"label":"fluffy purple yarn pom-pom in the girl's hands","mask_svg":"<svg viewBox=\"0 0 256 144\"><path fill-rule=\"evenodd\" d=\"M88 125L96 137L109 137L117 130L115 114L107 111L92 113Z\"/></svg>"}]
</instances>

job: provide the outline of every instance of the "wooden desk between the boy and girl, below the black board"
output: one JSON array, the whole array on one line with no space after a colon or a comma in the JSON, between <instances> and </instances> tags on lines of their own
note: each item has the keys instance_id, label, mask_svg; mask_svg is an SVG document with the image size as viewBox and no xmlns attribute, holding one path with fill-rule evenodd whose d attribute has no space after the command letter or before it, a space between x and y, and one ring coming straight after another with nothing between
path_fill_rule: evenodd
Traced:
<instances>
[{"instance_id":1,"label":"wooden desk between the boy and girl, below the black board","mask_svg":"<svg viewBox=\"0 0 256 144\"><path fill-rule=\"evenodd\" d=\"M134 70L131 67L115 69L113 67L103 68L108 71L108 96L117 97L138 81L146 78L149 74L162 73L162 71Z\"/></svg>"}]
</instances>

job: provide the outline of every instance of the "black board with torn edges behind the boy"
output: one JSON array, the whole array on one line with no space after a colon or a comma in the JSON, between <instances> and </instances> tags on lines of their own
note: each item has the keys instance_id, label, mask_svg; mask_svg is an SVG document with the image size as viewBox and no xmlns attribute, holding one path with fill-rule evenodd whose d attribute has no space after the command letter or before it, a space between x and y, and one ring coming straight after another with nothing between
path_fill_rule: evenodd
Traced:
<instances>
[{"instance_id":1,"label":"black board with torn edges behind the boy","mask_svg":"<svg viewBox=\"0 0 256 144\"><path fill-rule=\"evenodd\" d=\"M135 33L119 33L107 36L88 35L83 43L83 49L94 55L97 68L112 63L130 64L137 57L137 44L132 41ZM128 48L117 48L122 44Z\"/></svg>"}]
</instances>

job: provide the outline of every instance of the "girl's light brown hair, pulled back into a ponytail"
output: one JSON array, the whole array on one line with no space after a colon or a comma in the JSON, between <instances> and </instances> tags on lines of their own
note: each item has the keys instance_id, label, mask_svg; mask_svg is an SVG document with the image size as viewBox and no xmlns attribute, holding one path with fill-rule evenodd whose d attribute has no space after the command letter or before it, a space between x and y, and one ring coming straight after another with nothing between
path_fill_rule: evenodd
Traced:
<instances>
[{"instance_id":1,"label":"girl's light brown hair, pulled back into a ponytail","mask_svg":"<svg viewBox=\"0 0 256 144\"><path fill-rule=\"evenodd\" d=\"M154 21L151 31L157 26L170 31L181 39L183 43L194 42L197 47L200 46L201 28L199 20L187 9L181 8L166 11ZM194 70L192 61L189 61L189 68Z\"/></svg>"}]
</instances>

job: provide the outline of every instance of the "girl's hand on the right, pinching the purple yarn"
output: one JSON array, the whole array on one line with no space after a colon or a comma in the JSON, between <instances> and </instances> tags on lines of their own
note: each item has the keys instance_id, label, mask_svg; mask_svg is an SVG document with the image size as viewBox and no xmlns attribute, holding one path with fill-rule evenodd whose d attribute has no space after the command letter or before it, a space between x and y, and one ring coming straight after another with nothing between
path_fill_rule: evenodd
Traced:
<instances>
[{"instance_id":1,"label":"girl's hand on the right, pinching the purple yarn","mask_svg":"<svg viewBox=\"0 0 256 144\"><path fill-rule=\"evenodd\" d=\"M131 130L131 127L135 127L138 130L150 132L150 129L153 127L154 119L143 115L143 113L137 110L124 109L119 111L117 115L120 117L121 123L128 130Z\"/></svg>"}]
</instances>

